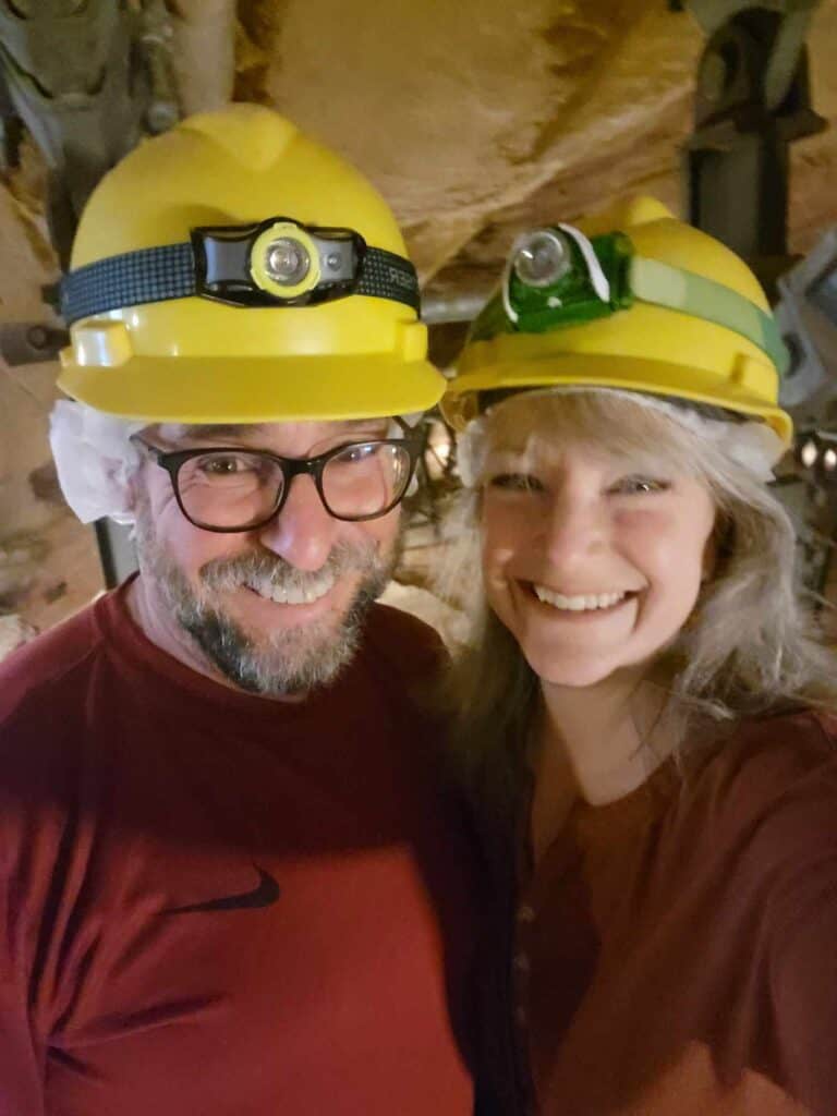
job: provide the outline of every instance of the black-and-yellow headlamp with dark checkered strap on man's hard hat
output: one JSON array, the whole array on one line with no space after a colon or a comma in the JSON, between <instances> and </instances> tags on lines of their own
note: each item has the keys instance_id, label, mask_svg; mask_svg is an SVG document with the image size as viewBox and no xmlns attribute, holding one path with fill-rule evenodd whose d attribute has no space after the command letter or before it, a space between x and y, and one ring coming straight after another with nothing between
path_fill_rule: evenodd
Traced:
<instances>
[{"instance_id":1,"label":"black-and-yellow headlamp with dark checkered strap on man's hard hat","mask_svg":"<svg viewBox=\"0 0 837 1116\"><path fill-rule=\"evenodd\" d=\"M238 307L299 307L350 295L387 298L417 312L415 268L353 229L275 217L200 227L186 243L77 268L61 282L61 312L71 325L108 310L195 296Z\"/></svg>"}]
</instances>

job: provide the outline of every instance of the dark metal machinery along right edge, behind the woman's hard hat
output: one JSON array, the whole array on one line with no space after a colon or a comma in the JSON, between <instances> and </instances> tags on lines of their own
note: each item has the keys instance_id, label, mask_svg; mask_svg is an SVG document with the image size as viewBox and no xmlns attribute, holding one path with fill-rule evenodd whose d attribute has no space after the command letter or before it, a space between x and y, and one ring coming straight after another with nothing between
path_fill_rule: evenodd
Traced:
<instances>
[{"instance_id":1,"label":"dark metal machinery along right edge, behind the woman's hard hat","mask_svg":"<svg viewBox=\"0 0 837 1116\"><path fill-rule=\"evenodd\" d=\"M761 280L792 363L781 392L797 427L778 484L800 537L806 586L824 595L837 538L837 229L789 256L790 144L826 127L805 47L818 0L686 0L708 40L686 148L690 220Z\"/></svg>"}]
</instances>

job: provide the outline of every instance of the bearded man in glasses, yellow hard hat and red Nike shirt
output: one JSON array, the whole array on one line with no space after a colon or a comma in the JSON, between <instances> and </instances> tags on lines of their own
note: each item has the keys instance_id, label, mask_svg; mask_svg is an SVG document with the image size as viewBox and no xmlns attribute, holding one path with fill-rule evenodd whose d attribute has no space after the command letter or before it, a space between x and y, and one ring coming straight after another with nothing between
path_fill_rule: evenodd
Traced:
<instances>
[{"instance_id":1,"label":"bearded man in glasses, yellow hard hat and red Nike shirt","mask_svg":"<svg viewBox=\"0 0 837 1116\"><path fill-rule=\"evenodd\" d=\"M99 185L52 441L140 575L0 672L0 1116L460 1116L468 850L374 605L441 394L412 266L267 109Z\"/></svg>"}]
</instances>

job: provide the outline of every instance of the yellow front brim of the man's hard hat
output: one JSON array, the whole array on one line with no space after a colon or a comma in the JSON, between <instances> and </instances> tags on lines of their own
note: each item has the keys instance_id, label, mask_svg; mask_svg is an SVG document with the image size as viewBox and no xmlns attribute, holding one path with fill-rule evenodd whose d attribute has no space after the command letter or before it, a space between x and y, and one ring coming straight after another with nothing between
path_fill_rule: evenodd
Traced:
<instances>
[{"instance_id":1,"label":"yellow front brim of the man's hard hat","mask_svg":"<svg viewBox=\"0 0 837 1116\"><path fill-rule=\"evenodd\" d=\"M134 356L115 368L68 360L58 386L123 419L179 423L316 422L427 411L445 381L389 356Z\"/></svg>"}]
</instances>

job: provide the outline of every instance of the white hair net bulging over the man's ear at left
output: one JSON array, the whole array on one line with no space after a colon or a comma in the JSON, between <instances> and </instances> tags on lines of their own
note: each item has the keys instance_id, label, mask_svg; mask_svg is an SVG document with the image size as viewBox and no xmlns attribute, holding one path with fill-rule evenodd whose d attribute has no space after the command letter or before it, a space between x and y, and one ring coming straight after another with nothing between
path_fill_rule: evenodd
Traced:
<instances>
[{"instance_id":1,"label":"white hair net bulging over the man's ear at left","mask_svg":"<svg viewBox=\"0 0 837 1116\"><path fill-rule=\"evenodd\" d=\"M58 483L83 523L109 516L133 523L129 480L140 464L133 434L148 424L117 419L85 403L59 400L49 422Z\"/></svg>"}]
</instances>

